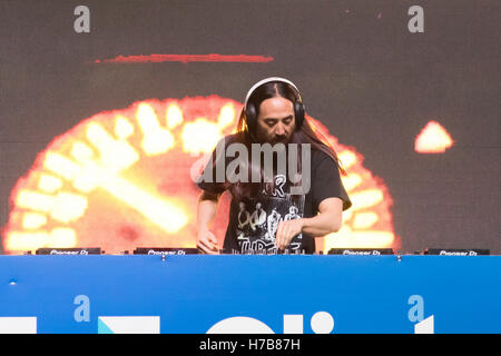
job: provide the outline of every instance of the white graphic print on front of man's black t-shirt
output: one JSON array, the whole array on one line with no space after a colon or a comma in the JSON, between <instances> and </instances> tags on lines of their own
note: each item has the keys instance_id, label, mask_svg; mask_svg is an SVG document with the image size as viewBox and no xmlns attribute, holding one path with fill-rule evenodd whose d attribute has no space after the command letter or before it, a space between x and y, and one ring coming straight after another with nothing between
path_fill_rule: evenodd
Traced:
<instances>
[{"instance_id":1,"label":"white graphic print on front of man's black t-shirt","mask_svg":"<svg viewBox=\"0 0 501 356\"><path fill-rule=\"evenodd\" d=\"M235 233L242 254L275 254L278 222L303 217L305 196L284 191L285 182L285 176L277 175L273 191L263 190L256 197L238 201ZM289 253L299 251L302 238L302 234L293 237Z\"/></svg>"}]
</instances>

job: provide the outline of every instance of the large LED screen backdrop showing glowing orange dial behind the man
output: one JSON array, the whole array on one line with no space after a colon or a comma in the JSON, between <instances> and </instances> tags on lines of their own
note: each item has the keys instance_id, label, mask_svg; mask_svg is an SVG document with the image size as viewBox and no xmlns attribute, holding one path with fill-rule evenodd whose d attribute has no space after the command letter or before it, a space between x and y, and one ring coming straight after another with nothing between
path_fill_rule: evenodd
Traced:
<instances>
[{"instance_id":1,"label":"large LED screen backdrop showing glowing orange dial behind the man","mask_svg":"<svg viewBox=\"0 0 501 356\"><path fill-rule=\"evenodd\" d=\"M500 241L495 1L2 1L0 253L191 247L256 81L299 88L353 208L317 249ZM228 197L216 219L223 244Z\"/></svg>"}]
</instances>

